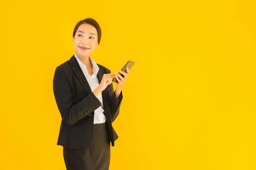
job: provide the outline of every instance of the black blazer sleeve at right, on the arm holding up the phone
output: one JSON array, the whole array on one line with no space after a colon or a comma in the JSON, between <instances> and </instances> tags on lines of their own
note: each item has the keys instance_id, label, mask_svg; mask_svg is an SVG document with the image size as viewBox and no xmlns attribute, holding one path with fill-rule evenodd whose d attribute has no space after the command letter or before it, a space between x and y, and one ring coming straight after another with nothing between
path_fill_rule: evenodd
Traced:
<instances>
[{"instance_id":1,"label":"black blazer sleeve at right, on the arm holding up the phone","mask_svg":"<svg viewBox=\"0 0 256 170\"><path fill-rule=\"evenodd\" d=\"M111 71L109 71L109 73L111 73ZM115 96L115 92L116 91L113 90L113 82L109 86L110 86L110 97L111 97L111 100L110 100L110 104L111 104L111 121L114 122L116 117L119 115L119 111L120 111L120 106L121 106L121 103L122 103L123 95L122 95L122 91L121 91L119 99L116 99L116 96Z\"/></svg>"}]
</instances>

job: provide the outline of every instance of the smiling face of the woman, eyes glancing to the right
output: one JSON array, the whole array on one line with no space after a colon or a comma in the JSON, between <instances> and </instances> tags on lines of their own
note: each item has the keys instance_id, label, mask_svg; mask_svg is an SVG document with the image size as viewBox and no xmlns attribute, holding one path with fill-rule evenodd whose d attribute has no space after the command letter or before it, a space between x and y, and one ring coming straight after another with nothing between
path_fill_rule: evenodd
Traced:
<instances>
[{"instance_id":1,"label":"smiling face of the woman, eyes glancing to the right","mask_svg":"<svg viewBox=\"0 0 256 170\"><path fill-rule=\"evenodd\" d=\"M77 56L89 56L99 45L96 28L90 24L81 24L76 31L73 44Z\"/></svg>"}]
</instances>

